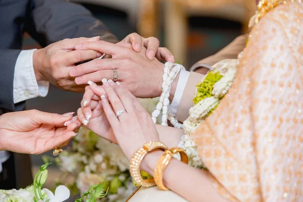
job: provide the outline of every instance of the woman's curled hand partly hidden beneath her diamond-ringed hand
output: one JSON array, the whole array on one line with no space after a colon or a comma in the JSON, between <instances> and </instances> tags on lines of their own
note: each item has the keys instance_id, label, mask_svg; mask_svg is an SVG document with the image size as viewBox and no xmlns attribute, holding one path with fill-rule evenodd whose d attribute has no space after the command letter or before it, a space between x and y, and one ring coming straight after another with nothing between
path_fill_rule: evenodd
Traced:
<instances>
[{"instance_id":1,"label":"woman's curled hand partly hidden beneath her diamond-ringed hand","mask_svg":"<svg viewBox=\"0 0 303 202\"><path fill-rule=\"evenodd\" d=\"M105 91L100 86L96 86L96 94L86 86L81 108L78 109L78 119L83 123L84 127L92 130L99 136L117 144L113 129L104 113L100 96ZM98 95L98 96L97 96Z\"/></svg>"}]
</instances>

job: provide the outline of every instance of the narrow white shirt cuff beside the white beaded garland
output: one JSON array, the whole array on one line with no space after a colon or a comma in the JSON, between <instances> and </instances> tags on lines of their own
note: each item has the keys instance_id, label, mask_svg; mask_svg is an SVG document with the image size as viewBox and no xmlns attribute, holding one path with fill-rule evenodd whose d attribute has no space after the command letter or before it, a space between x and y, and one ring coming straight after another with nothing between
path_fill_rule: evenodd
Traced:
<instances>
[{"instance_id":1,"label":"narrow white shirt cuff beside the white beaded garland","mask_svg":"<svg viewBox=\"0 0 303 202\"><path fill-rule=\"evenodd\" d=\"M183 91L185 89L185 85L187 83L190 72L186 70L180 71L179 80L177 83L176 91L172 103L169 107L168 114L171 116L177 115L177 110L183 95Z\"/></svg>"}]
</instances>

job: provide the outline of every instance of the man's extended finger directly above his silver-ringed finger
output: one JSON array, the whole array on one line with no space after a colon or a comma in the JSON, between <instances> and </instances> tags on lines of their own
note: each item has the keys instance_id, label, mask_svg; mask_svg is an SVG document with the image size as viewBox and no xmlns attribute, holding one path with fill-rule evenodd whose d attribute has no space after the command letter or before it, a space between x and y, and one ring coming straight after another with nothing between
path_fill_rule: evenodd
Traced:
<instances>
[{"instance_id":1,"label":"man's extended finger directly above his silver-ringed finger","mask_svg":"<svg viewBox=\"0 0 303 202\"><path fill-rule=\"evenodd\" d=\"M72 67L69 71L69 75L72 77L82 76L84 74L96 72L99 70L112 70L120 67L123 64L123 61L118 59L102 59L102 60L93 60L76 67Z\"/></svg>"}]
</instances>

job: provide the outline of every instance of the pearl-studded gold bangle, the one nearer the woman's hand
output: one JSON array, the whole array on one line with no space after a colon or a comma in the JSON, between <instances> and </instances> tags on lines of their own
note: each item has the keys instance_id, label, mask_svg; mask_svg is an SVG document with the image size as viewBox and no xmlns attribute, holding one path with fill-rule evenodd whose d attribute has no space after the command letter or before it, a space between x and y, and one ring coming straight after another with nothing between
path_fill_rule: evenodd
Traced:
<instances>
[{"instance_id":1,"label":"pearl-studded gold bangle, the one nearer the woman's hand","mask_svg":"<svg viewBox=\"0 0 303 202\"><path fill-rule=\"evenodd\" d=\"M162 142L147 142L143 145L143 148L139 148L132 156L129 165L129 172L136 184L143 187L151 187L156 185L154 178L143 180L140 174L140 164L143 158L147 153L156 149L161 149L164 151L167 149L167 146Z\"/></svg>"}]
</instances>

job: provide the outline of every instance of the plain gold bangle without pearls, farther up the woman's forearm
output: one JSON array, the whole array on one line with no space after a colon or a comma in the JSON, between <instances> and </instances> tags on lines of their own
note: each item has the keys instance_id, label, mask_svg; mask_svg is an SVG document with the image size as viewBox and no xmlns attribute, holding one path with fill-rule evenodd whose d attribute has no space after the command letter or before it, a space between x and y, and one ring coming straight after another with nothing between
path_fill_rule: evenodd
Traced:
<instances>
[{"instance_id":1,"label":"plain gold bangle without pearls, farther up the woman's forearm","mask_svg":"<svg viewBox=\"0 0 303 202\"><path fill-rule=\"evenodd\" d=\"M163 183L163 174L173 155L177 153L179 153L181 156L181 162L188 164L188 158L183 149L179 147L173 147L171 149L165 150L164 154L160 157L154 172L155 183L161 190L168 190L168 188Z\"/></svg>"}]
</instances>

